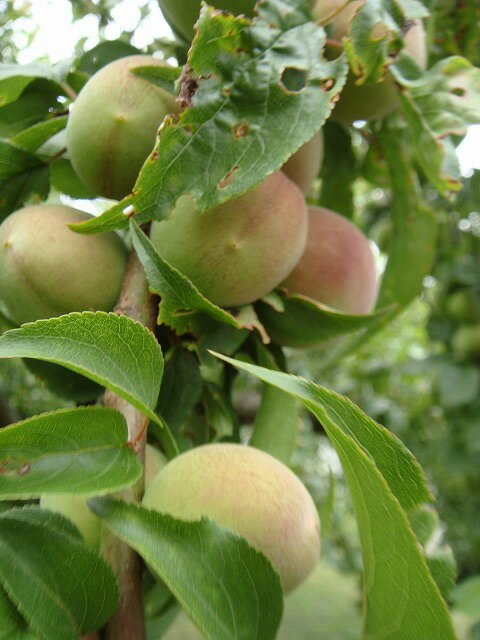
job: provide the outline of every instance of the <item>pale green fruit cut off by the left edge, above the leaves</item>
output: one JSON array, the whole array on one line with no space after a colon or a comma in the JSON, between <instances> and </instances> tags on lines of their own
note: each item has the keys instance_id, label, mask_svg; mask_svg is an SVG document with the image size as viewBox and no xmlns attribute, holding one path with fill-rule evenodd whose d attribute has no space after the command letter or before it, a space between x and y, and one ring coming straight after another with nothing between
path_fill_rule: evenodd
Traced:
<instances>
[{"instance_id":1,"label":"pale green fruit cut off by the left edge, above the leaves","mask_svg":"<svg viewBox=\"0 0 480 640\"><path fill-rule=\"evenodd\" d=\"M0 225L0 304L16 324L113 308L127 249L115 233L82 235L67 226L91 217L64 205L34 205Z\"/></svg>"}]
</instances>

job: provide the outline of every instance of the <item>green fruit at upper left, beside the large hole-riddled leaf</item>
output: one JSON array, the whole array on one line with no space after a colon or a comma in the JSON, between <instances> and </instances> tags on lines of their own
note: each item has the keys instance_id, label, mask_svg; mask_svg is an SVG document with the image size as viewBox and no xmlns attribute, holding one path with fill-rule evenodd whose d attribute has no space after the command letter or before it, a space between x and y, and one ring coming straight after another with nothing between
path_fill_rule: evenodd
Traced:
<instances>
[{"instance_id":1,"label":"green fruit at upper left, beside the large hole-riddled leaf","mask_svg":"<svg viewBox=\"0 0 480 640\"><path fill-rule=\"evenodd\" d=\"M129 194L153 150L163 119L177 110L175 98L130 71L166 66L151 56L128 56L100 69L76 99L67 124L73 168L98 195L120 200Z\"/></svg>"}]
</instances>

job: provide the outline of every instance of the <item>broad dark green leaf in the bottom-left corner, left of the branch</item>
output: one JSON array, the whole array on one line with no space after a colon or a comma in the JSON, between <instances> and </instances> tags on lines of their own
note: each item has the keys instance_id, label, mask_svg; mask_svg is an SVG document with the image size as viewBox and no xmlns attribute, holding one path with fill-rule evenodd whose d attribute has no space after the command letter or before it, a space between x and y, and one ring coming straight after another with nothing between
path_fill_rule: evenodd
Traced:
<instances>
[{"instance_id":1,"label":"broad dark green leaf in the bottom-left corner, left of the branch","mask_svg":"<svg viewBox=\"0 0 480 640\"><path fill-rule=\"evenodd\" d=\"M0 583L42 638L79 640L118 602L112 570L59 526L58 514L14 508L0 514Z\"/></svg>"}]
</instances>

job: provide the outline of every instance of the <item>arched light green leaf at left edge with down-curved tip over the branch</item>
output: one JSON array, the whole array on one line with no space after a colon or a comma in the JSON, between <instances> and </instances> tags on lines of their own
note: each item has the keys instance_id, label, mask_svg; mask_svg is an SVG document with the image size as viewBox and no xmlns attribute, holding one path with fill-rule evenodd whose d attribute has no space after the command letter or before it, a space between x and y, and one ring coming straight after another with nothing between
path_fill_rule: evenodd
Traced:
<instances>
[{"instance_id":1,"label":"arched light green leaf at left edge with down-curved tip over the branch","mask_svg":"<svg viewBox=\"0 0 480 640\"><path fill-rule=\"evenodd\" d=\"M160 423L153 411L163 373L154 335L126 316L85 311L37 320L0 336L0 358L36 358L98 382Z\"/></svg>"}]
</instances>

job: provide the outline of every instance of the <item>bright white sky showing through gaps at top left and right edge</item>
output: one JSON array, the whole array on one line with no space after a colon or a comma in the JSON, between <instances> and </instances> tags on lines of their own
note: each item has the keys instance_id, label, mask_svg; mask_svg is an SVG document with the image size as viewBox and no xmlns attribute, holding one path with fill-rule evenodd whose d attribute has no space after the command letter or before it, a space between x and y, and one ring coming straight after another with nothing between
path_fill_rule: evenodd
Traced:
<instances>
[{"instance_id":1,"label":"bright white sky showing through gaps at top left and right edge","mask_svg":"<svg viewBox=\"0 0 480 640\"><path fill-rule=\"evenodd\" d=\"M18 0L15 4L21 4ZM183 0L178 0L182 2ZM139 7L145 0L122 0L113 9L112 15L116 24L110 24L106 30L109 40L118 38L122 30L135 28L140 18ZM150 18L135 32L132 44L142 49L155 38L171 37L170 27L165 22L156 0L150 0ZM47 56L52 62L69 58L73 54L75 43L82 37L87 38L86 48L97 43L97 20L86 16L82 20L72 22L71 5L68 0L34 0L32 2L32 19L24 20L25 30L30 32L38 25L33 42L27 46L19 37L19 46L25 46L20 54L19 62L26 63ZM480 124L469 128L468 135L457 149L463 175L472 169L480 170Z\"/></svg>"}]
</instances>

